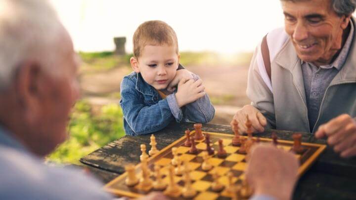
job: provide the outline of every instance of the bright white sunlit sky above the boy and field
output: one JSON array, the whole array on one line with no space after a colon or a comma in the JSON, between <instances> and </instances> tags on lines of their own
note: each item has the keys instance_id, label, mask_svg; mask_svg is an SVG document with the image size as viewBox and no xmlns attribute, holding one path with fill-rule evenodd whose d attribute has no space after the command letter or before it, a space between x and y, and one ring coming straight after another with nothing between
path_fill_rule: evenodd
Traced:
<instances>
[{"instance_id":1,"label":"bright white sunlit sky above the boy and field","mask_svg":"<svg viewBox=\"0 0 356 200\"><path fill-rule=\"evenodd\" d=\"M162 20L176 31L180 51L252 51L283 26L280 0L51 0L77 51L114 50L114 37Z\"/></svg>"}]
</instances>

